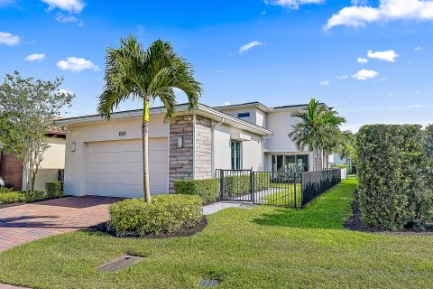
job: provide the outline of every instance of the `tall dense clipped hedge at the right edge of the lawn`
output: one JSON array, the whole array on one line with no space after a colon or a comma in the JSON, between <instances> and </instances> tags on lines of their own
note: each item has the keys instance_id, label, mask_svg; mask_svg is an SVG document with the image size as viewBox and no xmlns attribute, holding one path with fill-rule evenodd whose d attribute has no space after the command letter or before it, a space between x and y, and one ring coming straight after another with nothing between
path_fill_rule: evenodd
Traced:
<instances>
[{"instance_id":1,"label":"tall dense clipped hedge at the right edge of the lawn","mask_svg":"<svg viewBox=\"0 0 433 289\"><path fill-rule=\"evenodd\" d=\"M421 126L363 126L356 137L359 200L370 226L425 228L433 193Z\"/></svg>"}]
</instances>

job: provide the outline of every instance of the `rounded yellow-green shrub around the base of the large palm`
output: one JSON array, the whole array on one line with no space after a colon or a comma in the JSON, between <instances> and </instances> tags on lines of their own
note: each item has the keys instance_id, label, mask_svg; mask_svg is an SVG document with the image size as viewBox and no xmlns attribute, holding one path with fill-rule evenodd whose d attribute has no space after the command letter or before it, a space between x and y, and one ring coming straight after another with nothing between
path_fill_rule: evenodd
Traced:
<instances>
[{"instance_id":1,"label":"rounded yellow-green shrub around the base of the large palm","mask_svg":"<svg viewBox=\"0 0 433 289\"><path fill-rule=\"evenodd\" d=\"M109 207L109 227L117 236L172 233L192 228L203 216L202 199L189 195L161 195L115 202Z\"/></svg>"}]
</instances>

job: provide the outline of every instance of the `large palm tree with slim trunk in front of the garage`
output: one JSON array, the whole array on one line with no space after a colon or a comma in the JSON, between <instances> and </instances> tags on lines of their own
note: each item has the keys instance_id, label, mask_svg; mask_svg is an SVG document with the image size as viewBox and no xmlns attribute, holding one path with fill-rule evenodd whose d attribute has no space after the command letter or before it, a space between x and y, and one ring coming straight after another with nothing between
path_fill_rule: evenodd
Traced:
<instances>
[{"instance_id":1,"label":"large palm tree with slim trunk in front of the garage","mask_svg":"<svg viewBox=\"0 0 433 289\"><path fill-rule=\"evenodd\" d=\"M143 191L151 202L149 186L149 106L161 100L166 108L165 122L175 117L176 95L180 89L188 97L189 109L198 104L202 85L194 79L194 70L188 61L178 56L170 42L157 40L147 50L130 35L120 40L120 48L106 51L105 87L99 97L97 111L110 119L111 113L127 99L143 101Z\"/></svg>"}]
</instances>

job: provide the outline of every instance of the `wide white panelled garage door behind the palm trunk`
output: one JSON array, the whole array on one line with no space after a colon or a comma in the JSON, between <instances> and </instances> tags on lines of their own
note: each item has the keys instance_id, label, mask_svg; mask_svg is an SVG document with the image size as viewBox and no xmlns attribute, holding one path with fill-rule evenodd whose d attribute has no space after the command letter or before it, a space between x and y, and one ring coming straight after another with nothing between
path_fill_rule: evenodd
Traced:
<instances>
[{"instance_id":1,"label":"wide white panelled garage door behind the palm trunk","mask_svg":"<svg viewBox=\"0 0 433 289\"><path fill-rule=\"evenodd\" d=\"M168 140L149 139L151 193L168 192ZM142 140L88 143L87 194L143 197Z\"/></svg>"}]
</instances>

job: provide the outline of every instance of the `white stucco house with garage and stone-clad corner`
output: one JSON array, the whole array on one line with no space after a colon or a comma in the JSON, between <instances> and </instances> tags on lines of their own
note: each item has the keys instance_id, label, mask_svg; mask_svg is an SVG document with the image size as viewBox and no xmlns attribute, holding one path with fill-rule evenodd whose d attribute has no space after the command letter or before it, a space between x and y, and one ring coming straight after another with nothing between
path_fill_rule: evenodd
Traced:
<instances>
[{"instance_id":1,"label":"white stucco house with garage and stone-clad corner","mask_svg":"<svg viewBox=\"0 0 433 289\"><path fill-rule=\"evenodd\" d=\"M177 107L164 124L164 107L151 108L151 193L173 191L178 179L205 179L216 169L277 171L289 163L312 166L310 152L299 152L288 134L293 109L259 102L226 107ZM116 197L143 196L142 109L59 121L67 127L65 193Z\"/></svg>"}]
</instances>

